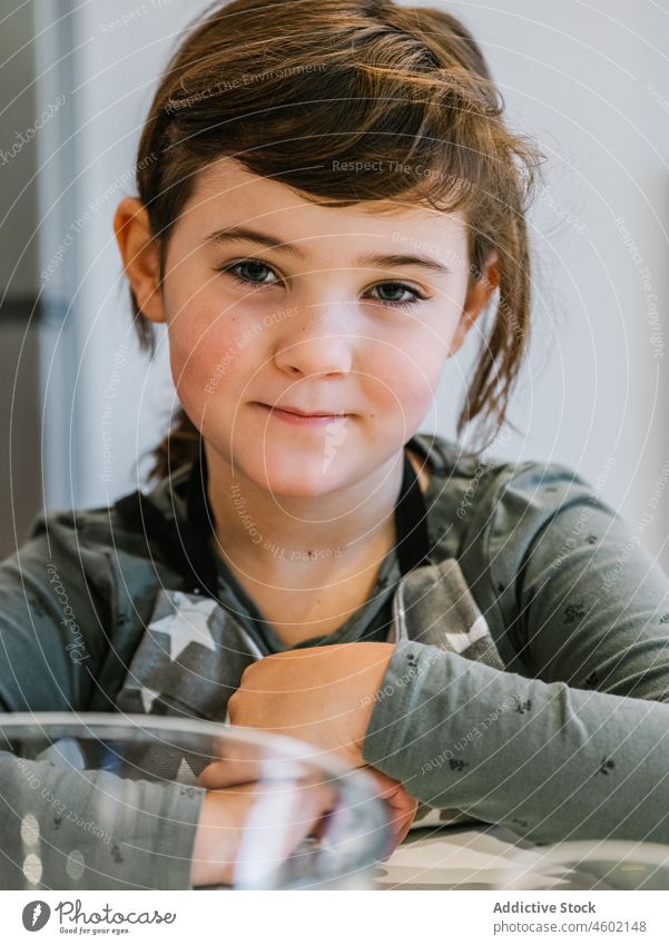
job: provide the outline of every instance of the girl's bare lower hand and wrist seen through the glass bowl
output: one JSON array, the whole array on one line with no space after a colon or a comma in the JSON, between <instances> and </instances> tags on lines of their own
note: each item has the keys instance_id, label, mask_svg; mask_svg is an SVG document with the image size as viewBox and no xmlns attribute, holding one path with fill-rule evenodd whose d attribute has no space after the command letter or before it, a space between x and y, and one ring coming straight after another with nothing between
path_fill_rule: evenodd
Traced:
<instances>
[{"instance_id":1,"label":"girl's bare lower hand and wrist seen through the glass bowl","mask_svg":"<svg viewBox=\"0 0 669 945\"><path fill-rule=\"evenodd\" d=\"M207 791L193 848L190 884L234 886L245 860L260 875L274 872L305 837L318 834L335 803L336 791L326 784L244 784ZM258 844L249 848L252 836Z\"/></svg>"}]
</instances>

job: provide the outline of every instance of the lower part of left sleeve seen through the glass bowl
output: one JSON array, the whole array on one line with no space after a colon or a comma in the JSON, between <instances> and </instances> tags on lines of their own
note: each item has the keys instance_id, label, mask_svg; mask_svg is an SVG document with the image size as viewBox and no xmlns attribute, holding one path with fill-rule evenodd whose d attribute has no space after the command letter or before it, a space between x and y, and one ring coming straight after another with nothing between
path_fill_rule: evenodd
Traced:
<instances>
[{"instance_id":1,"label":"lower part of left sleeve seen through the glass bowl","mask_svg":"<svg viewBox=\"0 0 669 945\"><path fill-rule=\"evenodd\" d=\"M0 888L190 889L205 794L0 752Z\"/></svg>"}]
</instances>

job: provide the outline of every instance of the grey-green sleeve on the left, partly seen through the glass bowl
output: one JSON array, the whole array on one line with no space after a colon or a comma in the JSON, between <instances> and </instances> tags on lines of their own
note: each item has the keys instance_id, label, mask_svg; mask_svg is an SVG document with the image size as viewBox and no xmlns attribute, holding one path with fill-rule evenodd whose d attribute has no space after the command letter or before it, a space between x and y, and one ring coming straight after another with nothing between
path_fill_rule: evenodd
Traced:
<instances>
[{"instance_id":1,"label":"grey-green sleeve on the left, partly seen through the glass bowl","mask_svg":"<svg viewBox=\"0 0 669 945\"><path fill-rule=\"evenodd\" d=\"M0 562L1 712L86 711L116 616L102 549L40 515ZM3 888L190 888L205 791L0 752Z\"/></svg>"}]
</instances>

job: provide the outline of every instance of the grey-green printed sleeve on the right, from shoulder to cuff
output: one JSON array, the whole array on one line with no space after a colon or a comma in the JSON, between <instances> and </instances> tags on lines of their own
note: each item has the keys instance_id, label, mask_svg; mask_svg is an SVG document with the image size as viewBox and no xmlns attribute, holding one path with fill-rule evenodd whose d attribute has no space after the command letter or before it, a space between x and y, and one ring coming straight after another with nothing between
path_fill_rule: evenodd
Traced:
<instances>
[{"instance_id":1,"label":"grey-green printed sleeve on the right, from shoulder to cuff","mask_svg":"<svg viewBox=\"0 0 669 945\"><path fill-rule=\"evenodd\" d=\"M481 580L523 672L407 642L364 760L426 805L534 843L669 843L667 577L563 467L523 466L494 504Z\"/></svg>"}]
</instances>

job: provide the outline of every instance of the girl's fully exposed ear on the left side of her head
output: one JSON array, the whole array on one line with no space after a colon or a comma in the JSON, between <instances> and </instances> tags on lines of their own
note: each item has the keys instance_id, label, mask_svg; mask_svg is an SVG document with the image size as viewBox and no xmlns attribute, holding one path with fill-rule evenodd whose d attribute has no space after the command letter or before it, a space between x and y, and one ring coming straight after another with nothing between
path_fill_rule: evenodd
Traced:
<instances>
[{"instance_id":1,"label":"girl's fully exposed ear on the left side of her head","mask_svg":"<svg viewBox=\"0 0 669 945\"><path fill-rule=\"evenodd\" d=\"M151 322L165 322L159 247L151 234L148 210L141 200L126 197L120 201L114 217L114 230L141 314Z\"/></svg>"}]
</instances>

